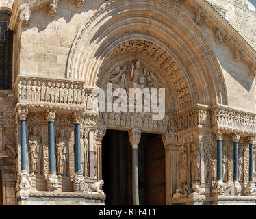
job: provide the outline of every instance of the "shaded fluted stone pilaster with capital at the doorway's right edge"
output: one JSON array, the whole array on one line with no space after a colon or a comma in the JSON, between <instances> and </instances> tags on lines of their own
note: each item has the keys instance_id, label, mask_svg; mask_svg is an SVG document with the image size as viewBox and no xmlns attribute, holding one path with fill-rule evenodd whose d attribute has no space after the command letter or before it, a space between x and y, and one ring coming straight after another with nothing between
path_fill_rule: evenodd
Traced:
<instances>
[{"instance_id":1,"label":"shaded fluted stone pilaster with capital at the doorway's right edge","mask_svg":"<svg viewBox=\"0 0 256 219\"><path fill-rule=\"evenodd\" d=\"M177 146L177 135L166 133L162 135L166 151L166 205L171 205L172 195L179 185L179 146Z\"/></svg>"}]
</instances>

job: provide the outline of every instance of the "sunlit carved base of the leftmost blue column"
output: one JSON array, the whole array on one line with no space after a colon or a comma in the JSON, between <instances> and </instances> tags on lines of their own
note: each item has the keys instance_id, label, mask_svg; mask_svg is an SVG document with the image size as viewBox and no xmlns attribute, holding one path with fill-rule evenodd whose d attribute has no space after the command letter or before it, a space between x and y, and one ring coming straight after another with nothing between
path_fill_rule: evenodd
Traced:
<instances>
[{"instance_id":1,"label":"sunlit carved base of the leftmost blue column","mask_svg":"<svg viewBox=\"0 0 256 219\"><path fill-rule=\"evenodd\" d=\"M27 170L21 170L20 175L18 175L18 180L16 184L16 188L18 190L17 196L26 198L29 196L30 188L31 188L31 179Z\"/></svg>"}]
</instances>

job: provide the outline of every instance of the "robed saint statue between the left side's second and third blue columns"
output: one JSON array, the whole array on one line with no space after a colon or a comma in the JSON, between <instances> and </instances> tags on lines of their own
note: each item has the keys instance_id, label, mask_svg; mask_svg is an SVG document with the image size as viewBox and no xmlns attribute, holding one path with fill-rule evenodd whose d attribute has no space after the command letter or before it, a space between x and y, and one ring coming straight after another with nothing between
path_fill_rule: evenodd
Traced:
<instances>
[{"instance_id":1,"label":"robed saint statue between the left side's second and third blue columns","mask_svg":"<svg viewBox=\"0 0 256 219\"><path fill-rule=\"evenodd\" d=\"M56 139L57 175L66 175L67 148L68 140L64 136L64 129L60 128L58 131L58 137Z\"/></svg>"}]
</instances>

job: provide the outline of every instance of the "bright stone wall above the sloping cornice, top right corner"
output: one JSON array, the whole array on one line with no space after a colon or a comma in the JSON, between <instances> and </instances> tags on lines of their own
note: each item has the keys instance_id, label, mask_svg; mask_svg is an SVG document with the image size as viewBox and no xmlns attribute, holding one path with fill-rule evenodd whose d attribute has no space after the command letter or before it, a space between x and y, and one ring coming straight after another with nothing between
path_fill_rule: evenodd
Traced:
<instances>
[{"instance_id":1,"label":"bright stone wall above the sloping cornice, top right corner","mask_svg":"<svg viewBox=\"0 0 256 219\"><path fill-rule=\"evenodd\" d=\"M256 1L207 0L256 50Z\"/></svg>"}]
</instances>

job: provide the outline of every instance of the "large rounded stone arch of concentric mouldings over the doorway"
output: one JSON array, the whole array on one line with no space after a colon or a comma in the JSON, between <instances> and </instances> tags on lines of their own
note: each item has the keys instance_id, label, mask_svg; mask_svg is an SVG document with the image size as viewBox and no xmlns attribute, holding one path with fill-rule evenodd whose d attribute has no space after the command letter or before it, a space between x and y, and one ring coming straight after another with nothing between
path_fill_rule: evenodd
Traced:
<instances>
[{"instance_id":1,"label":"large rounded stone arch of concentric mouldings over the doorway","mask_svg":"<svg viewBox=\"0 0 256 219\"><path fill-rule=\"evenodd\" d=\"M190 90L190 105L227 105L220 64L201 29L166 1L105 3L79 30L68 58L66 77L97 86L108 54L129 40L149 41L175 61ZM179 105L175 110L184 107L188 105Z\"/></svg>"}]
</instances>

